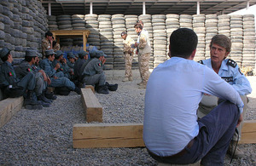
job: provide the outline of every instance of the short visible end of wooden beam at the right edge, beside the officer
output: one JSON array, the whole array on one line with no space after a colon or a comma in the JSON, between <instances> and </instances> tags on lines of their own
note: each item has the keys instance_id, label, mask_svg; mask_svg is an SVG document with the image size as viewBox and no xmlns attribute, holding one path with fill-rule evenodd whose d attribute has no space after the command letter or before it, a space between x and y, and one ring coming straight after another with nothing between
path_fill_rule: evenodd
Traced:
<instances>
[{"instance_id":1,"label":"short visible end of wooden beam at the right edge, beside the officer","mask_svg":"<svg viewBox=\"0 0 256 166\"><path fill-rule=\"evenodd\" d=\"M256 120L245 121L241 129L241 140L239 144L256 143Z\"/></svg>"}]
</instances>

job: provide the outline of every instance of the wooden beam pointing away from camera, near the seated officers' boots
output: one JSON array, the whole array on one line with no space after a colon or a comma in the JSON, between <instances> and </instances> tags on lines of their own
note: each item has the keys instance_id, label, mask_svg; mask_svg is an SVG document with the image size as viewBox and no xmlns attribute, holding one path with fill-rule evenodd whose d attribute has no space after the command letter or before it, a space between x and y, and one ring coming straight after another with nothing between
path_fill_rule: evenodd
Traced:
<instances>
[{"instance_id":1,"label":"wooden beam pointing away from camera, near the seated officers' boots","mask_svg":"<svg viewBox=\"0 0 256 166\"><path fill-rule=\"evenodd\" d=\"M81 90L86 122L102 123L102 105L91 89Z\"/></svg>"}]
</instances>

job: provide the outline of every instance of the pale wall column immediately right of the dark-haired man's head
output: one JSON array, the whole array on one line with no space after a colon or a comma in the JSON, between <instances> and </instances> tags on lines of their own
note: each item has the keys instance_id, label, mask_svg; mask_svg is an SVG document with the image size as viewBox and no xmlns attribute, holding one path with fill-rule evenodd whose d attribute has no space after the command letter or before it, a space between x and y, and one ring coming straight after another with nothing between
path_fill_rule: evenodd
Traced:
<instances>
[{"instance_id":1,"label":"pale wall column immediately right of the dark-haired man's head","mask_svg":"<svg viewBox=\"0 0 256 166\"><path fill-rule=\"evenodd\" d=\"M195 61L205 60L205 52L206 52L206 26L205 14L194 14L192 15L193 20L193 31L195 31L198 37L198 44L196 48Z\"/></svg>"}]
</instances>

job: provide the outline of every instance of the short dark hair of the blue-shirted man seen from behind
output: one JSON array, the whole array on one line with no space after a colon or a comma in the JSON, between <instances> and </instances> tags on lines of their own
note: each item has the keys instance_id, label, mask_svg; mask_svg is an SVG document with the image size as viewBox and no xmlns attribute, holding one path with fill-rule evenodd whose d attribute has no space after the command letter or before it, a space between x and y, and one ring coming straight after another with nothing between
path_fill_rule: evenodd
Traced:
<instances>
[{"instance_id":1,"label":"short dark hair of the blue-shirted man seen from behind","mask_svg":"<svg viewBox=\"0 0 256 166\"><path fill-rule=\"evenodd\" d=\"M195 31L188 28L179 28L172 32L170 37L171 56L189 58L190 54L196 49L198 42Z\"/></svg>"}]
</instances>

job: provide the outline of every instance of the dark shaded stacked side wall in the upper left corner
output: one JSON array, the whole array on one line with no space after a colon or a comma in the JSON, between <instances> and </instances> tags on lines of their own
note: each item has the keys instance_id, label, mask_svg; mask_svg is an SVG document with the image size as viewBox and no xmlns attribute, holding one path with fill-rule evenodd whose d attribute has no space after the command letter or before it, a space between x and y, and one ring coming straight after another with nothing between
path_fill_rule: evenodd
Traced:
<instances>
[{"instance_id":1,"label":"dark shaded stacked side wall in the upper left corner","mask_svg":"<svg viewBox=\"0 0 256 166\"><path fill-rule=\"evenodd\" d=\"M1 0L0 49L14 50L15 63L25 56L27 48L41 52L47 21L46 10L38 0Z\"/></svg>"}]
</instances>

